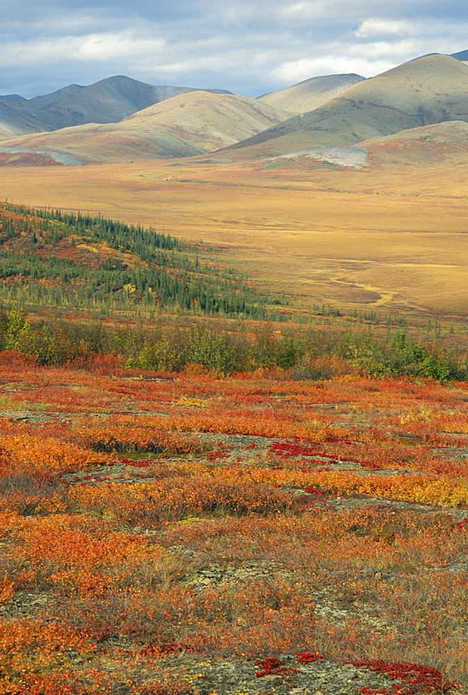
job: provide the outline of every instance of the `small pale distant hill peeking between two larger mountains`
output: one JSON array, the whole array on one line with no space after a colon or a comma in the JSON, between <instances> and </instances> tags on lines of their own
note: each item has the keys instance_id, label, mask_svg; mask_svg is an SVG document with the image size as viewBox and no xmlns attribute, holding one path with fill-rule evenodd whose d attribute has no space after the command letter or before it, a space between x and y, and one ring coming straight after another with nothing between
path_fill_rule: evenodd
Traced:
<instances>
[{"instance_id":1,"label":"small pale distant hill peeking between two larger mountains","mask_svg":"<svg viewBox=\"0 0 468 695\"><path fill-rule=\"evenodd\" d=\"M291 87L269 92L258 99L264 104L283 108L291 113L305 113L322 106L325 101L337 97L341 92L364 79L355 73L311 77Z\"/></svg>"}]
</instances>

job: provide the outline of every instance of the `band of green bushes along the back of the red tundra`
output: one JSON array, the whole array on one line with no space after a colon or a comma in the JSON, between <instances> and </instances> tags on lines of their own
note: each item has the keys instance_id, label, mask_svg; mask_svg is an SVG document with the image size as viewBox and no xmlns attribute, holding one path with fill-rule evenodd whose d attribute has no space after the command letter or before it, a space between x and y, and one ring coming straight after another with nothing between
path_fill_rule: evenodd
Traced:
<instances>
[{"instance_id":1,"label":"band of green bushes along the back of the red tundra","mask_svg":"<svg viewBox=\"0 0 468 695\"><path fill-rule=\"evenodd\" d=\"M31 355L42 365L86 365L99 354L113 354L127 368L168 372L195 363L224 374L279 368L293 379L329 379L336 370L350 369L376 378L468 378L465 359L437 344L416 343L402 332L387 342L369 332L281 334L266 323L247 334L242 326L227 331L214 320L209 325L191 321L109 329L98 322L30 322L24 311L13 309L0 312L0 348Z\"/></svg>"}]
</instances>

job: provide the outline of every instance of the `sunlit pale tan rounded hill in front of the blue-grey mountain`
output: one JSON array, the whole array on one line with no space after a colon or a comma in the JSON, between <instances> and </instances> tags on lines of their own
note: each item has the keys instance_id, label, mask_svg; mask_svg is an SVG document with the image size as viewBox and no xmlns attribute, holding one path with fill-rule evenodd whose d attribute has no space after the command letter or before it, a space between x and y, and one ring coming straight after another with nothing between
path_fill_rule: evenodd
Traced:
<instances>
[{"instance_id":1,"label":"sunlit pale tan rounded hill in front of the blue-grey mountain","mask_svg":"<svg viewBox=\"0 0 468 695\"><path fill-rule=\"evenodd\" d=\"M7 148L47 150L86 163L191 156L232 145L289 115L250 97L186 92L117 123L86 124L3 140L0 153ZM31 153L25 154L25 161L30 161Z\"/></svg>"}]
</instances>

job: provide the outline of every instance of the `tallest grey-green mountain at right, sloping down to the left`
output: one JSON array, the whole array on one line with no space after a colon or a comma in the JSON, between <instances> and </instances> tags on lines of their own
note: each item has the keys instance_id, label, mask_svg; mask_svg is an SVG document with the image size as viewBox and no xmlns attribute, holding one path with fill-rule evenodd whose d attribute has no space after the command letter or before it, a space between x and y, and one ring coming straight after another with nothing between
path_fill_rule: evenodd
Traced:
<instances>
[{"instance_id":1,"label":"tallest grey-green mountain at right, sloping down to the left","mask_svg":"<svg viewBox=\"0 0 468 695\"><path fill-rule=\"evenodd\" d=\"M346 146L447 120L468 121L468 67L451 56L424 56L227 149L248 148L250 157Z\"/></svg>"}]
</instances>

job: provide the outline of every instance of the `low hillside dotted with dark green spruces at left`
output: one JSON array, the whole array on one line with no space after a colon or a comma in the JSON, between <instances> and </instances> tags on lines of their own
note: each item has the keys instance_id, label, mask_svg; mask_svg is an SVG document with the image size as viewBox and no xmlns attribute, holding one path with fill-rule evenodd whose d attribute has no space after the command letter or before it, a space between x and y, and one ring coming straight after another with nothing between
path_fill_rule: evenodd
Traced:
<instances>
[{"instance_id":1,"label":"low hillside dotted with dark green spruces at left","mask_svg":"<svg viewBox=\"0 0 468 695\"><path fill-rule=\"evenodd\" d=\"M264 318L266 296L203 253L139 225L0 204L1 304Z\"/></svg>"}]
</instances>

